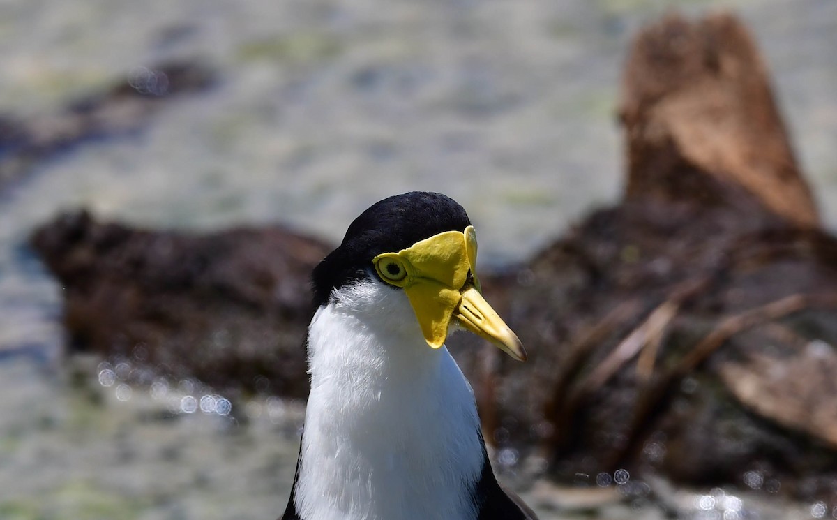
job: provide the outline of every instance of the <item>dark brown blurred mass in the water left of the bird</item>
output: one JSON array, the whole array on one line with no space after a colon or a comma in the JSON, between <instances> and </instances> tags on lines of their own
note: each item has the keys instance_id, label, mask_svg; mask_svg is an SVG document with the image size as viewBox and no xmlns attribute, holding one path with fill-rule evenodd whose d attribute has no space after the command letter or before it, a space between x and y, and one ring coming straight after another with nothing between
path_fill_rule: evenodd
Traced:
<instances>
[{"instance_id":1,"label":"dark brown blurred mass in the water left of the bird","mask_svg":"<svg viewBox=\"0 0 837 520\"><path fill-rule=\"evenodd\" d=\"M64 286L69 348L219 389L306 397L311 269L329 248L287 229L151 232L60 215L32 244Z\"/></svg>"}]
</instances>

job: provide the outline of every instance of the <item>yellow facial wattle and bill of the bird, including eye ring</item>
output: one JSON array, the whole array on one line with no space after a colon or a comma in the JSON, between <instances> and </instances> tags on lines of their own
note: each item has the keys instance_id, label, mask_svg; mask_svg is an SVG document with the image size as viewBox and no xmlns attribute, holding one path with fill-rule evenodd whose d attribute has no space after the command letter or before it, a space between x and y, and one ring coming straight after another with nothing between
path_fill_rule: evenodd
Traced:
<instances>
[{"instance_id":1,"label":"yellow facial wattle and bill of the bird, including eye ring","mask_svg":"<svg viewBox=\"0 0 837 520\"><path fill-rule=\"evenodd\" d=\"M444 345L450 319L456 317L512 358L525 360L520 340L481 295L476 252L476 232L468 226L377 255L372 263L381 280L403 288L430 347Z\"/></svg>"}]
</instances>

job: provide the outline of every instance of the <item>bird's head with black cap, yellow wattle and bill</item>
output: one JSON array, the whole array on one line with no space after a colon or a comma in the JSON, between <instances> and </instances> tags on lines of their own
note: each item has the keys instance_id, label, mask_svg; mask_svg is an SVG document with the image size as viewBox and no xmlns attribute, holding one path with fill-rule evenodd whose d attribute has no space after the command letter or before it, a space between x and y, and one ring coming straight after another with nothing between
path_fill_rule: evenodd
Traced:
<instances>
[{"instance_id":1,"label":"bird's head with black cap, yellow wattle and bill","mask_svg":"<svg viewBox=\"0 0 837 520\"><path fill-rule=\"evenodd\" d=\"M526 359L520 340L482 296L477 241L465 209L439 193L385 198L355 219L340 247L314 270L315 302L372 280L403 291L430 348L440 348L455 323L512 358Z\"/></svg>"}]
</instances>

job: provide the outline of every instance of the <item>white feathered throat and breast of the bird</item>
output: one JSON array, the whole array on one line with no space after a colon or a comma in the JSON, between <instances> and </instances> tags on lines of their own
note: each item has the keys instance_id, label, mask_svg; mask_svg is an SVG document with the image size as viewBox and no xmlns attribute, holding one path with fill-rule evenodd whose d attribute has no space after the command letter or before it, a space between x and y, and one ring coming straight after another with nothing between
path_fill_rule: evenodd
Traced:
<instances>
[{"instance_id":1,"label":"white feathered throat and breast of the bird","mask_svg":"<svg viewBox=\"0 0 837 520\"><path fill-rule=\"evenodd\" d=\"M308 337L295 506L305 520L465 520L484 455L474 394L403 291L336 291Z\"/></svg>"}]
</instances>

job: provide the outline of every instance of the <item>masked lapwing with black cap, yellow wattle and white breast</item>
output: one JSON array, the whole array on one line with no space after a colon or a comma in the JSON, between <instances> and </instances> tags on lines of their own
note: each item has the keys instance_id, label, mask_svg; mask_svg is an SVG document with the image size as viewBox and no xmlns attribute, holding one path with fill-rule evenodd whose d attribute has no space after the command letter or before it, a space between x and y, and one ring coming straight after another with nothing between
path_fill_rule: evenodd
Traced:
<instances>
[{"instance_id":1,"label":"masked lapwing with black cap, yellow wattle and white breast","mask_svg":"<svg viewBox=\"0 0 837 520\"><path fill-rule=\"evenodd\" d=\"M491 470L475 399L444 342L520 340L480 294L476 234L439 193L372 205L312 275L311 394L283 520L532 519Z\"/></svg>"}]
</instances>

